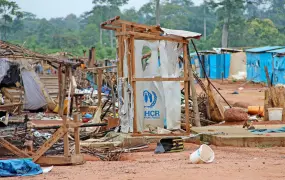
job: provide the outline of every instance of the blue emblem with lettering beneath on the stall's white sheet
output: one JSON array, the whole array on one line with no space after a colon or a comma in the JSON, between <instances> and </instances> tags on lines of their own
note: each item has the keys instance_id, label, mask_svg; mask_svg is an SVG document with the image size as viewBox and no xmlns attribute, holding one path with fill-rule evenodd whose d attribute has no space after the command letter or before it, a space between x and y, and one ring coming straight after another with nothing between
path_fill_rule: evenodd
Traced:
<instances>
[{"instance_id":1,"label":"blue emblem with lettering beneath on the stall's white sheet","mask_svg":"<svg viewBox=\"0 0 285 180\"><path fill-rule=\"evenodd\" d=\"M149 92L145 90L143 92L144 97L144 107L145 108L153 108L157 102L157 95L154 91ZM160 118L160 111L157 110L148 110L144 111L144 118L145 119L159 119Z\"/></svg>"}]
</instances>

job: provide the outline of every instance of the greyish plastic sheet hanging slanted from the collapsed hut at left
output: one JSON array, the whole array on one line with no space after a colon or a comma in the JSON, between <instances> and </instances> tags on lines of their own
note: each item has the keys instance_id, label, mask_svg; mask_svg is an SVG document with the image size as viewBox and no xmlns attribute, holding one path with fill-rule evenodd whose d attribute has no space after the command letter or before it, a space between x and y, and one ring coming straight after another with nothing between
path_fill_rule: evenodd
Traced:
<instances>
[{"instance_id":1,"label":"greyish plastic sheet hanging slanted from the collapsed hut at left","mask_svg":"<svg viewBox=\"0 0 285 180\"><path fill-rule=\"evenodd\" d=\"M24 109L37 110L44 107L47 102L37 82L40 78L34 71L23 69L21 71L24 89L25 89L25 104Z\"/></svg>"}]
</instances>

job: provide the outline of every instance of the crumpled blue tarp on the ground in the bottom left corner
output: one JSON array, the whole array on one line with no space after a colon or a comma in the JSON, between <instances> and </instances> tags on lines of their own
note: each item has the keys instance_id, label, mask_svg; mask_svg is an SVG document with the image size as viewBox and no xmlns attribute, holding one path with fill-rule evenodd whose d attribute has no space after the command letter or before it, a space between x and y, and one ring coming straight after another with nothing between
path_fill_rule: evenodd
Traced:
<instances>
[{"instance_id":1,"label":"crumpled blue tarp on the ground in the bottom left corner","mask_svg":"<svg viewBox=\"0 0 285 180\"><path fill-rule=\"evenodd\" d=\"M42 173L42 168L28 159L0 160L0 177L34 176Z\"/></svg>"}]
</instances>

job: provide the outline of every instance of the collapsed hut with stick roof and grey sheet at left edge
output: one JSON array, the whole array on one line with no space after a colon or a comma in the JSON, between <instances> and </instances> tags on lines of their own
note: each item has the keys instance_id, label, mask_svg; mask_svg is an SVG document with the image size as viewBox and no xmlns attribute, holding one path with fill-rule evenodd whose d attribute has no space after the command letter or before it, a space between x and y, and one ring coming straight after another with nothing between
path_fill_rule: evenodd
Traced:
<instances>
[{"instance_id":1,"label":"collapsed hut with stick roof and grey sheet at left edge","mask_svg":"<svg viewBox=\"0 0 285 180\"><path fill-rule=\"evenodd\" d=\"M13 91L15 91L15 88L17 91L24 91L23 99L17 101L18 104L23 105L23 107L21 107L23 109L37 110L46 105L48 105L50 109L55 107L53 99L50 97L45 85L41 82L33 68L35 62L43 61L54 67L65 62L65 60L59 60L30 51L18 45L0 41L1 91L6 97L6 100L8 100L4 107L14 106L15 100L13 98ZM6 80L5 84L3 80ZM11 88L13 90L11 90ZM17 97L17 99L20 98ZM0 109L2 109L1 106Z\"/></svg>"}]
</instances>

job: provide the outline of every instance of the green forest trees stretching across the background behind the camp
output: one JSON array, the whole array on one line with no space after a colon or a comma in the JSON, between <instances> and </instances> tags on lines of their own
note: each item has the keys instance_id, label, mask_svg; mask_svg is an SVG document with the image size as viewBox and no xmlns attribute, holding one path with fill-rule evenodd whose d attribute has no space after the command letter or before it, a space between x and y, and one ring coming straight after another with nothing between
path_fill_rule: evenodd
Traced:
<instances>
[{"instance_id":1,"label":"green forest trees stretching across the background behind the camp","mask_svg":"<svg viewBox=\"0 0 285 180\"><path fill-rule=\"evenodd\" d=\"M103 21L121 16L128 21L156 23L155 0L138 10L121 10L120 7L127 2L94 0L90 11L79 17L70 14L47 20L21 12L15 2L0 0L0 38L42 53L65 51L77 56L94 46L98 60L116 58L114 33L100 29ZM221 47L225 18L229 19L230 47L285 44L285 0L205 0L199 6L191 0L160 2L162 27L203 33L206 20L206 40L195 40L200 50Z\"/></svg>"}]
</instances>

